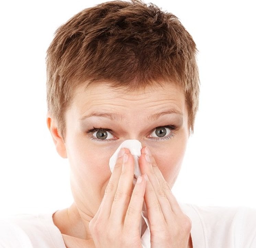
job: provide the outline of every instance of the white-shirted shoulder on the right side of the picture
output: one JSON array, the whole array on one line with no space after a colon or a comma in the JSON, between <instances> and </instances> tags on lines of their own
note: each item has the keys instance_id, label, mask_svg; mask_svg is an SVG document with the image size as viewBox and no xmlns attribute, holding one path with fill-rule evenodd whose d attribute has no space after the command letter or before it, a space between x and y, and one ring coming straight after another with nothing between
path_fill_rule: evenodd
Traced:
<instances>
[{"instance_id":1,"label":"white-shirted shoulder on the right side of the picture","mask_svg":"<svg viewBox=\"0 0 256 248\"><path fill-rule=\"evenodd\" d=\"M194 204L182 204L182 209L202 247L256 247L256 209Z\"/></svg>"}]
</instances>

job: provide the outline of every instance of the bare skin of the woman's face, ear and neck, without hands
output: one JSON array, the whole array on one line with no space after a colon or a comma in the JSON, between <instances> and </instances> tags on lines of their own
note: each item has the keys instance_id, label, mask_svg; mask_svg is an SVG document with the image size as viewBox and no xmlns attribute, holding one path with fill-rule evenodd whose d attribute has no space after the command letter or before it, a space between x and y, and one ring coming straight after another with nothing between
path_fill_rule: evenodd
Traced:
<instances>
[{"instance_id":1,"label":"bare skin of the woman's face, ear and neck, without hands","mask_svg":"<svg viewBox=\"0 0 256 248\"><path fill-rule=\"evenodd\" d=\"M99 207L112 175L108 166L109 158L124 140L139 140L143 147L142 153L147 147L151 152L151 160L160 172L158 178L162 176L161 180L166 181L170 189L174 185L189 138L188 111L181 88L174 83L161 83L163 87L151 86L136 92L126 92L122 88L113 90L106 83L90 86L86 90L84 86L78 87L75 90L74 101L66 112L65 142L58 135L55 120L49 113L47 114L47 125L57 152L62 158L69 159L71 169L71 190L74 203L69 208L57 211L53 215L54 223L61 231L67 247L94 247L95 242L89 223L100 212ZM155 113L169 109L179 114L164 114L156 120L148 118ZM114 112L121 117L116 120L111 120L106 116L91 116L82 119L92 112ZM166 125L176 127L176 130L162 129L166 131L164 137L172 134L170 139L163 139L155 133L157 127ZM86 132L93 127L107 128L112 131ZM97 133L107 135L106 139L97 138ZM128 149L126 153L129 154ZM147 188L154 188L156 184L153 183L153 174L150 174L152 168L149 166L152 165L147 165L144 156L145 154L140 157L139 162L142 173L149 175L150 183L147 182L147 186L146 180L143 179L146 197ZM131 166L133 166L132 163L133 161L130 161ZM149 196L148 194L146 203L151 204ZM170 204L177 204L175 201L172 200ZM144 230L145 225L143 225L142 233ZM192 247L191 236L189 236L187 247Z\"/></svg>"}]
</instances>

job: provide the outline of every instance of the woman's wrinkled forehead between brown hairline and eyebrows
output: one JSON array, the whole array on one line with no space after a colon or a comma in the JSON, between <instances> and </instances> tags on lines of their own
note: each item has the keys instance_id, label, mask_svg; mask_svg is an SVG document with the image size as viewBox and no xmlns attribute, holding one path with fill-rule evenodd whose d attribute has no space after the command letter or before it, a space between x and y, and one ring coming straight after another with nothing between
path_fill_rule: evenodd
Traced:
<instances>
[{"instance_id":1,"label":"woman's wrinkled forehead between brown hairline and eyebrows","mask_svg":"<svg viewBox=\"0 0 256 248\"><path fill-rule=\"evenodd\" d=\"M80 85L74 91L71 108L80 114L89 110L153 110L171 107L179 112L185 111L185 96L180 86L174 83L148 86L143 90L131 90L125 87L113 88L107 82Z\"/></svg>"}]
</instances>

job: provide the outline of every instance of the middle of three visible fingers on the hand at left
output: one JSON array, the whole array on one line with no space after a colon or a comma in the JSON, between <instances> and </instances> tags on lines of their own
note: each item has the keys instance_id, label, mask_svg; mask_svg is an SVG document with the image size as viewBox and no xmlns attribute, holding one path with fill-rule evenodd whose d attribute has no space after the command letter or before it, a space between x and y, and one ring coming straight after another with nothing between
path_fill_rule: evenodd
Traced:
<instances>
[{"instance_id":1,"label":"middle of three visible fingers on the hand at left","mask_svg":"<svg viewBox=\"0 0 256 248\"><path fill-rule=\"evenodd\" d=\"M126 155L128 156L127 161L124 161L122 165L122 172L109 216L109 218L112 218L112 224L116 226L123 225L125 213L132 195L134 158L131 153Z\"/></svg>"}]
</instances>

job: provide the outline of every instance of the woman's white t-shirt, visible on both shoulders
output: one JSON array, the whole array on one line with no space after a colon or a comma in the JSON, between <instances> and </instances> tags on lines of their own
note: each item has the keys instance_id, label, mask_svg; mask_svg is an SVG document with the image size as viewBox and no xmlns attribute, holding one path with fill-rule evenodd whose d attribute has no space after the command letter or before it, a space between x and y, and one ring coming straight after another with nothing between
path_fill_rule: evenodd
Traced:
<instances>
[{"instance_id":1,"label":"woman's white t-shirt, visible on both shoulders","mask_svg":"<svg viewBox=\"0 0 256 248\"><path fill-rule=\"evenodd\" d=\"M256 248L256 209L179 205L192 221L194 248ZM53 213L14 215L1 220L0 247L65 248Z\"/></svg>"}]
</instances>

